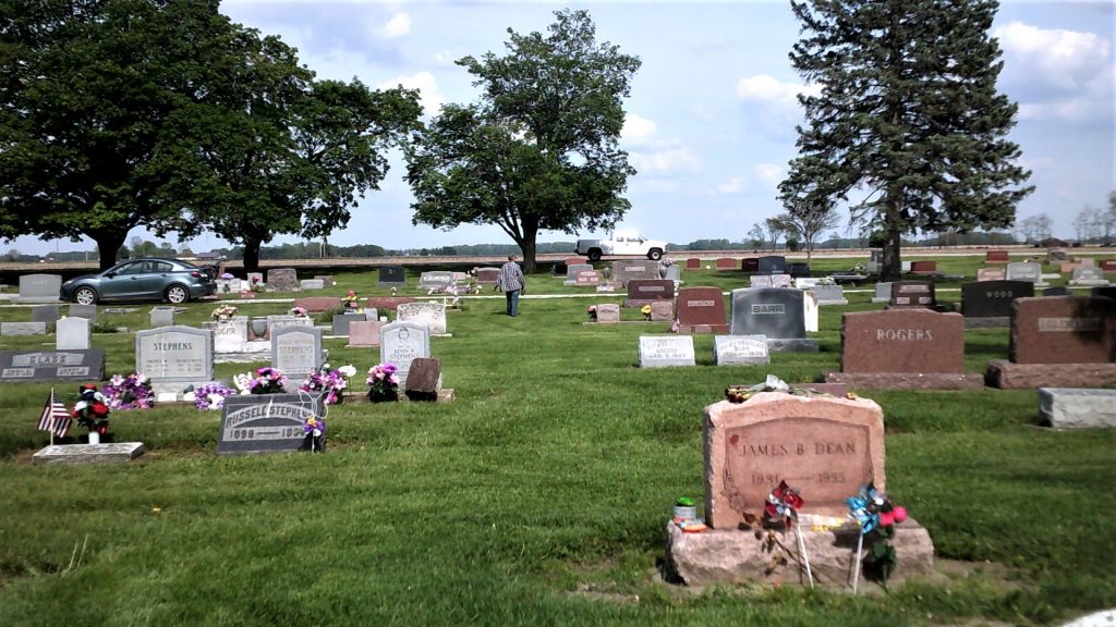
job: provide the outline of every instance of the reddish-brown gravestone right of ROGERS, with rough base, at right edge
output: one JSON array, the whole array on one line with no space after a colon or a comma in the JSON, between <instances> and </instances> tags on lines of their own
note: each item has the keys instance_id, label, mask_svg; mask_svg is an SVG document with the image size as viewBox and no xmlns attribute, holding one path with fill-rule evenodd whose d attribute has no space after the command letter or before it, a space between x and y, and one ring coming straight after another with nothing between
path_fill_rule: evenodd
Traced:
<instances>
[{"instance_id":1,"label":"reddish-brown gravestone right of ROGERS, with rough base, at right edge","mask_svg":"<svg viewBox=\"0 0 1116 627\"><path fill-rule=\"evenodd\" d=\"M995 359L988 384L1003 389L1116 386L1116 300L1049 296L1013 303L1010 360Z\"/></svg>"}]
</instances>

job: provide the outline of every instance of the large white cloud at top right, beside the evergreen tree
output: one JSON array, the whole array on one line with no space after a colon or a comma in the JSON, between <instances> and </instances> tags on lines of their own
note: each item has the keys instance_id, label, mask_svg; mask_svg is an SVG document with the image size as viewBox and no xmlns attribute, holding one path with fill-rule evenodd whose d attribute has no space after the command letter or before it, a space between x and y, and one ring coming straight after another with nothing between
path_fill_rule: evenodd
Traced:
<instances>
[{"instance_id":1,"label":"large white cloud at top right, beside the evergreen tree","mask_svg":"<svg viewBox=\"0 0 1116 627\"><path fill-rule=\"evenodd\" d=\"M1020 68L1027 68L1028 74L1037 71L1045 83L1060 89L1088 87L1112 55L1112 42L1095 32L1043 29L1013 21L992 35Z\"/></svg>"}]
</instances>

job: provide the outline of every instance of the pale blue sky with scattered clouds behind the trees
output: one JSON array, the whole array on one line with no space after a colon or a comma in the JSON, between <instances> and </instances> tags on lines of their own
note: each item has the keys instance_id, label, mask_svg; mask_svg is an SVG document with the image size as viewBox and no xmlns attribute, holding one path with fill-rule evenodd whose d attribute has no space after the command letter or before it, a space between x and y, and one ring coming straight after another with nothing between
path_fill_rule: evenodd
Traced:
<instances>
[{"instance_id":1,"label":"pale blue sky with scattered clouds behind the trees","mask_svg":"<svg viewBox=\"0 0 1116 627\"><path fill-rule=\"evenodd\" d=\"M795 156L801 120L795 95L804 89L787 57L799 37L789 1L224 0L221 10L280 36L321 78L419 88L430 116L443 103L478 97L455 59L501 55L508 28L545 31L554 11L567 7L587 9L598 40L643 61L625 103L622 145L638 174L628 181L632 210L622 225L677 243L741 241L754 222L781 210L776 185ZM1085 206L1106 208L1116 190L1114 7L1004 0L993 26L1003 49L1000 90L1020 105L1011 138L1037 186L1018 219L1045 212L1062 237L1072 237L1071 221ZM403 170L396 155L382 190L365 196L331 243L398 249L510 242L496 226L412 225ZM131 235L154 239L140 230ZM573 238L543 232L539 240ZM199 251L223 242L210 235L190 244ZM12 245L22 252L56 247L32 238Z\"/></svg>"}]
</instances>

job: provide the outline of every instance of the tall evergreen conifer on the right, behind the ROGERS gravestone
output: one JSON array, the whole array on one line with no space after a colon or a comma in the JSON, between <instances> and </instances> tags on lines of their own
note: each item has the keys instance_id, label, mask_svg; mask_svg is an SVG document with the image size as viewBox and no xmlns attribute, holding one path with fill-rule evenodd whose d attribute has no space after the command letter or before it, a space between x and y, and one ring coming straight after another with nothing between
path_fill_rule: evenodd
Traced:
<instances>
[{"instance_id":1,"label":"tall evergreen conifer on the right, behind the ROGERS gravestone","mask_svg":"<svg viewBox=\"0 0 1116 627\"><path fill-rule=\"evenodd\" d=\"M905 232L1004 228L1033 187L1006 139L1016 105L997 93L995 0L791 1L799 156L780 184L790 206L848 201L884 234L882 278L901 271Z\"/></svg>"}]
</instances>

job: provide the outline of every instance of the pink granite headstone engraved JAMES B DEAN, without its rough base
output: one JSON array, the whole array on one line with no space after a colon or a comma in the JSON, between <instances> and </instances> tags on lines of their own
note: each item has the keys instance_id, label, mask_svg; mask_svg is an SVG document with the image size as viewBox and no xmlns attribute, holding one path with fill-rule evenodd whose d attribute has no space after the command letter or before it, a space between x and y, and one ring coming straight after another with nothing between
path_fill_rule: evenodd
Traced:
<instances>
[{"instance_id":1,"label":"pink granite headstone engraved JAMES B DEAN, without its rough base","mask_svg":"<svg viewBox=\"0 0 1116 627\"><path fill-rule=\"evenodd\" d=\"M800 513L848 513L845 499L873 483L887 490L884 414L867 398L753 395L705 407L705 521L734 530L763 511L779 482L802 491Z\"/></svg>"}]
</instances>

